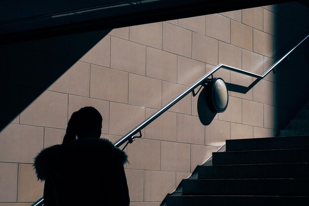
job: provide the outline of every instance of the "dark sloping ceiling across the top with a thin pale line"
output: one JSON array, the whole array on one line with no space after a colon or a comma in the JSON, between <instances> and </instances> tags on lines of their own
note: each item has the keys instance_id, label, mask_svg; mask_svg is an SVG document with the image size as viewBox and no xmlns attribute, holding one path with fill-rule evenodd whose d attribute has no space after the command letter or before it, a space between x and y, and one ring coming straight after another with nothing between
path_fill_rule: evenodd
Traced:
<instances>
[{"instance_id":1,"label":"dark sloping ceiling across the top with a thin pale line","mask_svg":"<svg viewBox=\"0 0 309 206\"><path fill-rule=\"evenodd\" d=\"M113 29L291 0L2 0L0 43Z\"/></svg>"}]
</instances>

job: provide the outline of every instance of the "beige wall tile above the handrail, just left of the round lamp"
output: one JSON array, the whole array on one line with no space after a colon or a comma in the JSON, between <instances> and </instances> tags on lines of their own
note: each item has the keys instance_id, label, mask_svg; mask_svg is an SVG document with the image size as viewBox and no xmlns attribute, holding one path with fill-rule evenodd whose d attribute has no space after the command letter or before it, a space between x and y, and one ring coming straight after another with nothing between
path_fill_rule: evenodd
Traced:
<instances>
[{"instance_id":1,"label":"beige wall tile above the handrail, just left of the round lamp","mask_svg":"<svg viewBox=\"0 0 309 206\"><path fill-rule=\"evenodd\" d=\"M205 63L178 56L177 83L192 85L205 75Z\"/></svg>"}]
</instances>

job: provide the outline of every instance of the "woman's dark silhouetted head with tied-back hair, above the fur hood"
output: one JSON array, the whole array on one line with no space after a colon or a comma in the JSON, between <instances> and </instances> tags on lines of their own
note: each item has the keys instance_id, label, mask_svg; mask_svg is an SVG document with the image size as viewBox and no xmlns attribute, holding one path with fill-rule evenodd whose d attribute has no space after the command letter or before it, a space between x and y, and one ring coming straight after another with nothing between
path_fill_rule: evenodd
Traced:
<instances>
[{"instance_id":1,"label":"woman's dark silhouetted head with tied-back hair, above the fur hood","mask_svg":"<svg viewBox=\"0 0 309 206\"><path fill-rule=\"evenodd\" d=\"M99 138L101 128L102 116L99 111L94 107L83 107L72 114L63 143L85 138Z\"/></svg>"}]
</instances>

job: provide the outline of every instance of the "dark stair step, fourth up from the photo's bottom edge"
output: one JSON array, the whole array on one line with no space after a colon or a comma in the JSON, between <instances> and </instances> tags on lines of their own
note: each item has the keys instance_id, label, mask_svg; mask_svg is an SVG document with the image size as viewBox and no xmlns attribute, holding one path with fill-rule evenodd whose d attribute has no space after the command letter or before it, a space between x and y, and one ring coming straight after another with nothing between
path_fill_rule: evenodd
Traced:
<instances>
[{"instance_id":1,"label":"dark stair step, fourth up from the photo's bottom edge","mask_svg":"<svg viewBox=\"0 0 309 206\"><path fill-rule=\"evenodd\" d=\"M309 163L309 149L212 153L212 165Z\"/></svg>"}]
</instances>

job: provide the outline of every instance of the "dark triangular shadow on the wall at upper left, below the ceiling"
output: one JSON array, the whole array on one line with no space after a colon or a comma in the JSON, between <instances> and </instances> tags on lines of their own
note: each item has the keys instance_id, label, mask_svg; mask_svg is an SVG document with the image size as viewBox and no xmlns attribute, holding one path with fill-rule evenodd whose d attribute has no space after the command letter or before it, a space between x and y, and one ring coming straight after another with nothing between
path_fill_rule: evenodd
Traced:
<instances>
[{"instance_id":1,"label":"dark triangular shadow on the wall at upper left, below the ceiling","mask_svg":"<svg viewBox=\"0 0 309 206\"><path fill-rule=\"evenodd\" d=\"M0 45L0 131L110 31Z\"/></svg>"}]
</instances>

